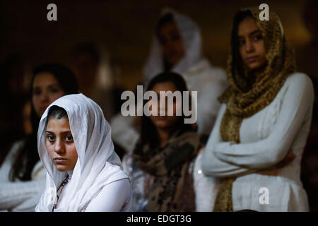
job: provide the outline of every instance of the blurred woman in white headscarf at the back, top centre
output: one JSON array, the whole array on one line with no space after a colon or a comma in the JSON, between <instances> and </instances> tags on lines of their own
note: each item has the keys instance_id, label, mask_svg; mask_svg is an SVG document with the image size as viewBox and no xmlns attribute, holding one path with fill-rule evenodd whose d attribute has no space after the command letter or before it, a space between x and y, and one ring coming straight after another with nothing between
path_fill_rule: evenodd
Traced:
<instances>
[{"instance_id":1,"label":"blurred woman in white headscarf at the back, top centre","mask_svg":"<svg viewBox=\"0 0 318 226\"><path fill-rule=\"evenodd\" d=\"M189 90L198 95L198 132L208 135L220 108L217 97L227 87L225 71L211 66L201 53L198 25L180 13L165 9L155 25L150 55L143 69L143 85L158 73L172 71L182 75ZM111 121L113 140L127 151L139 139L136 117L117 115Z\"/></svg>"}]
</instances>

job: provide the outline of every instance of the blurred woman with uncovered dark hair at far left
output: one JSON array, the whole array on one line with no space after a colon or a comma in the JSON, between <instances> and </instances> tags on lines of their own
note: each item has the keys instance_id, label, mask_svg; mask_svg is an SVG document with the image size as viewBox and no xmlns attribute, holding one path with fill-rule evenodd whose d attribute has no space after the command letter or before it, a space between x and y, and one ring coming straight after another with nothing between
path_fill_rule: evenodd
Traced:
<instances>
[{"instance_id":1,"label":"blurred woman with uncovered dark hair at far left","mask_svg":"<svg viewBox=\"0 0 318 226\"><path fill-rule=\"evenodd\" d=\"M0 168L0 210L34 211L45 189L45 169L37 153L37 126L54 100L78 93L73 73L59 64L45 64L33 70L31 83L30 135L16 141ZM27 123L28 124L28 123Z\"/></svg>"}]
</instances>

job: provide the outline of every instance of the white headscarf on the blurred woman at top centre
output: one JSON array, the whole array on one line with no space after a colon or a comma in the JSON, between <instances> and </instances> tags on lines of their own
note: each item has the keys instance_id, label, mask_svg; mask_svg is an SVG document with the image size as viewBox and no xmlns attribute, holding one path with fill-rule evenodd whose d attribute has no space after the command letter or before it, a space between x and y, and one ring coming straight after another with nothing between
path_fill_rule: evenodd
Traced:
<instances>
[{"instance_id":1,"label":"white headscarf on the blurred woman at top centre","mask_svg":"<svg viewBox=\"0 0 318 226\"><path fill-rule=\"evenodd\" d=\"M171 13L177 24L177 28L184 42L186 49L185 57L182 58L171 71L175 73L184 73L202 58L201 56L201 34L199 27L190 18L180 13L173 11L170 8L165 8L161 13L160 18L163 18L167 13ZM159 18L159 20L160 20ZM151 52L143 69L143 81L147 85L148 82L158 73L164 71L163 51L160 47L158 37L154 35Z\"/></svg>"}]
</instances>

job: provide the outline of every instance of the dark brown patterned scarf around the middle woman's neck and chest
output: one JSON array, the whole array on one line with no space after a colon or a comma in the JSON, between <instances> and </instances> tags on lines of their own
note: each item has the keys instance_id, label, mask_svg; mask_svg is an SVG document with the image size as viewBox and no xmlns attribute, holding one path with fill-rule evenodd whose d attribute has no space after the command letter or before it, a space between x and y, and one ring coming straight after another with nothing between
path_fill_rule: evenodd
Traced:
<instances>
[{"instance_id":1,"label":"dark brown patterned scarf around the middle woman's neck and chest","mask_svg":"<svg viewBox=\"0 0 318 226\"><path fill-rule=\"evenodd\" d=\"M194 131L177 131L163 148L152 150L143 145L134 151L136 165L155 176L147 194L147 211L194 211L193 183L188 183L189 164L203 146ZM189 195L189 190L192 190ZM191 199L191 200L190 200Z\"/></svg>"}]
</instances>

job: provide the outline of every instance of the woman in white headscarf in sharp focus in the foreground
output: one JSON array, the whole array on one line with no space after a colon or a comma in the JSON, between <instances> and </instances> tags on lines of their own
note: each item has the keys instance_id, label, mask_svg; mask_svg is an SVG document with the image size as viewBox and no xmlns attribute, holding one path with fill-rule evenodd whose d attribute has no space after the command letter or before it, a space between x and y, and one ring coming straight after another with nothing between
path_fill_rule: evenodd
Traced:
<instances>
[{"instance_id":1,"label":"woman in white headscarf in sharp focus in the foreground","mask_svg":"<svg viewBox=\"0 0 318 226\"><path fill-rule=\"evenodd\" d=\"M54 101L37 133L47 183L36 211L129 211L131 186L102 109L83 94Z\"/></svg>"}]
</instances>

